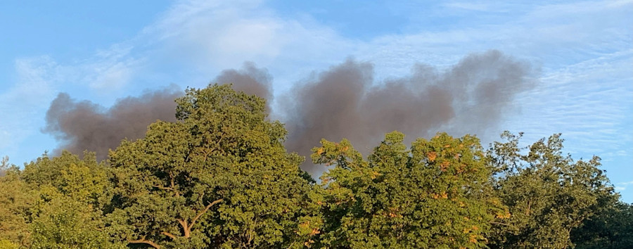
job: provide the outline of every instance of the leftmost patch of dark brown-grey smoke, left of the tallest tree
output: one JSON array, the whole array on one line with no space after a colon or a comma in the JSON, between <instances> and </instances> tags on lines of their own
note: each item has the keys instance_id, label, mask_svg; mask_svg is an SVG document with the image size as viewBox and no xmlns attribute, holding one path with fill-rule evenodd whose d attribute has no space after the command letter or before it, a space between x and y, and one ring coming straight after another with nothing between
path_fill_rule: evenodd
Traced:
<instances>
[{"instance_id":1,"label":"leftmost patch of dark brown-grey smoke, left of the tallest tree","mask_svg":"<svg viewBox=\"0 0 633 249\"><path fill-rule=\"evenodd\" d=\"M117 148L122 139L145 136L152 122L175 121L174 99L181 95L176 87L170 87L122 98L105 109L90 101L76 102L68 94L60 93L46 112L46 127L42 131L63 142L55 153L61 149L77 154L95 151L98 160L103 160L108 149Z\"/></svg>"}]
</instances>

